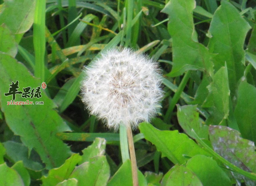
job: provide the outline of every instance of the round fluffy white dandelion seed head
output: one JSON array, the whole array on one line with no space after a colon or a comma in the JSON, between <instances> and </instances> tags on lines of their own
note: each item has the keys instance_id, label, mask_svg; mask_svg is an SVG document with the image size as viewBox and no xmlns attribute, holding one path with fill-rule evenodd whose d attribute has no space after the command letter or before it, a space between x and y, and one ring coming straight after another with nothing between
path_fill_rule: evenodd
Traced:
<instances>
[{"instance_id":1,"label":"round fluffy white dandelion seed head","mask_svg":"<svg viewBox=\"0 0 256 186\"><path fill-rule=\"evenodd\" d=\"M111 49L85 67L82 101L109 128L136 128L156 114L163 96L162 76L154 60L134 51Z\"/></svg>"}]
</instances>

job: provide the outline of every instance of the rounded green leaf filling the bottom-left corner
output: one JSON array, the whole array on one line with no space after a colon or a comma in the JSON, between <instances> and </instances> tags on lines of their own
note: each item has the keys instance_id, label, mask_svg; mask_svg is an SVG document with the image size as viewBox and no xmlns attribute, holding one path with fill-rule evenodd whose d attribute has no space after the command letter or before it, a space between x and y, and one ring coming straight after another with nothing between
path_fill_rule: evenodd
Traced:
<instances>
[{"instance_id":1,"label":"rounded green leaf filling the bottom-left corner","mask_svg":"<svg viewBox=\"0 0 256 186\"><path fill-rule=\"evenodd\" d=\"M20 175L5 163L0 165L0 186L24 186Z\"/></svg>"}]
</instances>

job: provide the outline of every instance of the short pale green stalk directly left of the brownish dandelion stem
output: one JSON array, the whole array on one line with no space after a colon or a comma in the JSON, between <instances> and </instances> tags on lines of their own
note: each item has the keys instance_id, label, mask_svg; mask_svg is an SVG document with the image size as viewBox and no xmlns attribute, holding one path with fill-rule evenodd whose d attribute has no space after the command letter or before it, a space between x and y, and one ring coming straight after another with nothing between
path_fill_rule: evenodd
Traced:
<instances>
[{"instance_id":1,"label":"short pale green stalk directly left of the brownish dandelion stem","mask_svg":"<svg viewBox=\"0 0 256 186\"><path fill-rule=\"evenodd\" d=\"M122 162L124 163L127 159L130 159L129 151L128 151L126 126L120 124L119 134L120 134L120 148L121 148Z\"/></svg>"}]
</instances>

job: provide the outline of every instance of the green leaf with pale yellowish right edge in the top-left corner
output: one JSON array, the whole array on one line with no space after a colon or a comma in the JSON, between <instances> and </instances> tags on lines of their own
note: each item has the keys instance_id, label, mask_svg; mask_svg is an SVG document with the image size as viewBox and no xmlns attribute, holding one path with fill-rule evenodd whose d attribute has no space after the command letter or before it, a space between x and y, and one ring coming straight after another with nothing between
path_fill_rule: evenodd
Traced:
<instances>
[{"instance_id":1,"label":"green leaf with pale yellowish right edge in the top-left corner","mask_svg":"<svg viewBox=\"0 0 256 186\"><path fill-rule=\"evenodd\" d=\"M15 34L25 33L34 20L36 0L5 0L0 13L0 25L5 23Z\"/></svg>"}]
</instances>

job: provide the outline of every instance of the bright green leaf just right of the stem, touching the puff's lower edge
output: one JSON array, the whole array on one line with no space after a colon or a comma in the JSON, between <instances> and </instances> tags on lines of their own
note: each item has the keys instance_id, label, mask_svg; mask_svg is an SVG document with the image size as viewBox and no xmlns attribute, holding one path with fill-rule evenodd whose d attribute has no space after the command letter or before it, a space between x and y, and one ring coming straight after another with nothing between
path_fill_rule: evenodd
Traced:
<instances>
[{"instance_id":1,"label":"bright green leaf just right of the stem, touching the puff's lower edge","mask_svg":"<svg viewBox=\"0 0 256 186\"><path fill-rule=\"evenodd\" d=\"M145 139L153 143L162 156L168 157L173 163L182 165L188 159L184 157L196 154L208 155L200 146L186 134L178 131L160 131L149 123L140 124L140 131Z\"/></svg>"}]
</instances>

